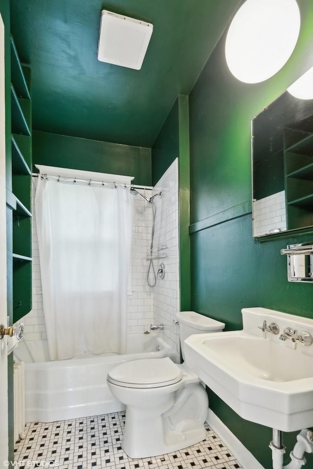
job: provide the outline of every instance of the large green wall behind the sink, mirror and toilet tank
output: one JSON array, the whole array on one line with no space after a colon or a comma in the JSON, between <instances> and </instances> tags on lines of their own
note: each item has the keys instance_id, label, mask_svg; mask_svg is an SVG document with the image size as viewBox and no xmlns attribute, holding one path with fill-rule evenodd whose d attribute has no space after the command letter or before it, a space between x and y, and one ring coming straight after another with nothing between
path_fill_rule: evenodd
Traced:
<instances>
[{"instance_id":1,"label":"large green wall behind the sink, mirror and toilet tank","mask_svg":"<svg viewBox=\"0 0 313 469\"><path fill-rule=\"evenodd\" d=\"M301 31L291 59L264 83L247 85L229 72L225 34L189 99L191 307L242 327L241 309L260 306L313 318L313 288L287 281L280 249L312 235L255 243L251 222L250 122L313 65L313 4L298 0ZM210 407L260 461L271 468L271 430L238 417L209 391ZM295 434L284 434L289 451ZM308 455L308 467L313 465ZM312 466L313 467L313 466Z\"/></svg>"}]
</instances>

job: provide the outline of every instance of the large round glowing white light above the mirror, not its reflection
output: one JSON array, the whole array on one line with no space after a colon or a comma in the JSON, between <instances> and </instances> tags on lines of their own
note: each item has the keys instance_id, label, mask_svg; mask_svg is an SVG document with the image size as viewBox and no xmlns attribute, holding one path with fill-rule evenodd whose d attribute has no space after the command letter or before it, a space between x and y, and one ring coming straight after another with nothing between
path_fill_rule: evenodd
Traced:
<instances>
[{"instance_id":1,"label":"large round glowing white light above the mirror, not its reflection","mask_svg":"<svg viewBox=\"0 0 313 469\"><path fill-rule=\"evenodd\" d=\"M296 0L246 0L227 33L225 55L231 73L245 83L267 80L286 64L299 31Z\"/></svg>"}]
</instances>

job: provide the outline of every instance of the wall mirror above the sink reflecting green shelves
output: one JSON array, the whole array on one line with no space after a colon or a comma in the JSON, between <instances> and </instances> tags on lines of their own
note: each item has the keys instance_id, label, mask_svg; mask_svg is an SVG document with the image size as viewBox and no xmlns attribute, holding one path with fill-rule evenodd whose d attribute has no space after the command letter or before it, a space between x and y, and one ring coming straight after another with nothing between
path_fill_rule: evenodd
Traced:
<instances>
[{"instance_id":1,"label":"wall mirror above the sink reflecting green shelves","mask_svg":"<svg viewBox=\"0 0 313 469\"><path fill-rule=\"evenodd\" d=\"M313 226L311 87L312 99L286 90L252 120L254 237Z\"/></svg>"}]
</instances>

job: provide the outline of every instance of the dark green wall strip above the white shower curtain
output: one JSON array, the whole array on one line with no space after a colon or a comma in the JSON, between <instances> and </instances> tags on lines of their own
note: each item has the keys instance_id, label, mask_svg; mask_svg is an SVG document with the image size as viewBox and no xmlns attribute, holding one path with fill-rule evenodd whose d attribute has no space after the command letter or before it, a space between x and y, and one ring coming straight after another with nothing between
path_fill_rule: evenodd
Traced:
<instances>
[{"instance_id":1,"label":"dark green wall strip above the white shower curtain","mask_svg":"<svg viewBox=\"0 0 313 469\"><path fill-rule=\"evenodd\" d=\"M134 184L151 186L150 148L33 132L33 163L134 176Z\"/></svg>"}]
</instances>

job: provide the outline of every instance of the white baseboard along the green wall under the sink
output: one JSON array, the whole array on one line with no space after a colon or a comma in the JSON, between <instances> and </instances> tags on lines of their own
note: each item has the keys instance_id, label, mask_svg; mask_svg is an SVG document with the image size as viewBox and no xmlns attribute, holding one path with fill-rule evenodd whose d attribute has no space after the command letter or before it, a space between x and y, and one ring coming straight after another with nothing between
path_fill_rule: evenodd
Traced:
<instances>
[{"instance_id":1,"label":"white baseboard along the green wall under the sink","mask_svg":"<svg viewBox=\"0 0 313 469\"><path fill-rule=\"evenodd\" d=\"M207 424L221 438L227 448L233 453L239 464L244 469L264 469L263 466L255 459L250 451L238 440L238 438L223 424L211 409L208 410Z\"/></svg>"}]
</instances>

